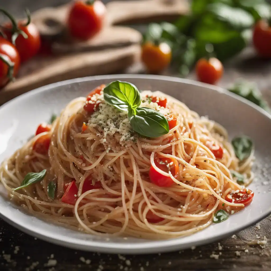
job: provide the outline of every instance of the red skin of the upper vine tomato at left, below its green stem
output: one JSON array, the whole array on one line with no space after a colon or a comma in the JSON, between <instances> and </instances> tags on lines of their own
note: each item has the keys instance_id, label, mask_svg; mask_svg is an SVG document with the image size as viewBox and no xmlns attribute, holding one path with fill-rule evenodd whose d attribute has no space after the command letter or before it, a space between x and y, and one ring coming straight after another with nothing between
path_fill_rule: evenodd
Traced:
<instances>
[{"instance_id":1,"label":"red skin of the upper vine tomato at left, below its green stem","mask_svg":"<svg viewBox=\"0 0 271 271\"><path fill-rule=\"evenodd\" d=\"M20 34L15 41L15 46L19 52L21 62L24 62L38 53L40 50L40 33L38 28L33 23L28 24L27 26L23 25L24 22L21 21L18 23L18 28L24 31L27 34L28 38L24 38ZM11 24L6 24L6 28L12 29ZM7 35L9 41L11 41L12 32L9 30L4 31Z\"/></svg>"}]
</instances>

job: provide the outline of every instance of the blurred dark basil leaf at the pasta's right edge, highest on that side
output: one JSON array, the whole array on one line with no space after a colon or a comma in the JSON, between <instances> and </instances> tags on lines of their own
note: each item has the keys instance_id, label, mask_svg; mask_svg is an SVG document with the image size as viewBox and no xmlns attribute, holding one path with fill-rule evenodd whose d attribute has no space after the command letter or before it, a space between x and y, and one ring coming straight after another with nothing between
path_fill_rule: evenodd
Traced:
<instances>
[{"instance_id":1,"label":"blurred dark basil leaf at the pasta's right edge, highest on that side","mask_svg":"<svg viewBox=\"0 0 271 271\"><path fill-rule=\"evenodd\" d=\"M231 141L231 144L233 145L233 149L234 149L236 157L240 161L243 161L247 157L249 157L253 148L252 140L247 136L235 137Z\"/></svg>"}]
</instances>

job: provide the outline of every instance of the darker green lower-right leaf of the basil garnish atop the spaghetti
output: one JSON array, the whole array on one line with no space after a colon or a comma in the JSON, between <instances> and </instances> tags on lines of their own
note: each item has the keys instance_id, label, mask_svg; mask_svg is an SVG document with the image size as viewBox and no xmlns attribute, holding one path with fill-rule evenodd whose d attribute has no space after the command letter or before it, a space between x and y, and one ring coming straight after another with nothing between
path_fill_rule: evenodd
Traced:
<instances>
[{"instance_id":1,"label":"darker green lower-right leaf of the basil garnish atop the spaghetti","mask_svg":"<svg viewBox=\"0 0 271 271\"><path fill-rule=\"evenodd\" d=\"M129 110L128 117L133 130L146 137L159 137L169 132L167 119L158 111L147 107Z\"/></svg>"}]
</instances>

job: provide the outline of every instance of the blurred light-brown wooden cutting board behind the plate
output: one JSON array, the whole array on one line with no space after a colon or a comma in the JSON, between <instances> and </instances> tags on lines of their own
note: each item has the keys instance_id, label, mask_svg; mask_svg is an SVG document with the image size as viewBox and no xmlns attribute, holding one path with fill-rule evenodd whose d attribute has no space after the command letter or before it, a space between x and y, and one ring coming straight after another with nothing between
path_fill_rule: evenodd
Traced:
<instances>
[{"instance_id":1,"label":"blurred light-brown wooden cutting board behind the plate","mask_svg":"<svg viewBox=\"0 0 271 271\"><path fill-rule=\"evenodd\" d=\"M0 104L31 89L76 77L121 72L140 56L141 34L120 24L174 20L188 12L185 0L125 0L107 4L105 27L97 36L78 42L67 35L70 4L42 8L32 14L41 36L52 41L52 57L22 64L18 78L0 91Z\"/></svg>"}]
</instances>

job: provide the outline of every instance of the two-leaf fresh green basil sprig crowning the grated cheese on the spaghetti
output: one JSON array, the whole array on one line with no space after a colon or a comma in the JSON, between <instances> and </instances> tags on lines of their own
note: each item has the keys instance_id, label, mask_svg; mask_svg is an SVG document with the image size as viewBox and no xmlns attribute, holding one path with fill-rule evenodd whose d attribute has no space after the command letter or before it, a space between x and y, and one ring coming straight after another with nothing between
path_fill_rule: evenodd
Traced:
<instances>
[{"instance_id":1,"label":"two-leaf fresh green basil sprig crowning the grated cheese on the spaghetti","mask_svg":"<svg viewBox=\"0 0 271 271\"><path fill-rule=\"evenodd\" d=\"M114 81L104 88L105 101L114 107L128 112L131 127L146 137L159 137L169 132L167 119L158 111L139 107L141 97L131 83Z\"/></svg>"}]
</instances>

